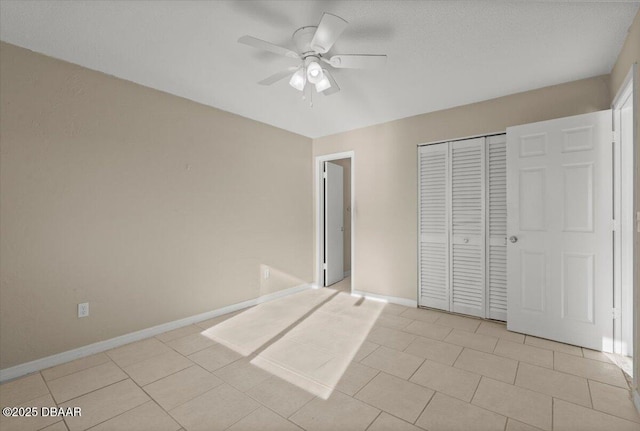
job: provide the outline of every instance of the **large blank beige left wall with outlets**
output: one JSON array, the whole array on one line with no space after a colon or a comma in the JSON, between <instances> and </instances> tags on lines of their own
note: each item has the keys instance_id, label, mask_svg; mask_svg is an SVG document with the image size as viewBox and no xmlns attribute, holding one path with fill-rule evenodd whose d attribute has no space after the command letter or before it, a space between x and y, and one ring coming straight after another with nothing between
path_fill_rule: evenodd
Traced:
<instances>
[{"instance_id":1,"label":"large blank beige left wall with outlets","mask_svg":"<svg viewBox=\"0 0 640 431\"><path fill-rule=\"evenodd\" d=\"M310 139L0 59L0 368L312 281Z\"/></svg>"}]
</instances>

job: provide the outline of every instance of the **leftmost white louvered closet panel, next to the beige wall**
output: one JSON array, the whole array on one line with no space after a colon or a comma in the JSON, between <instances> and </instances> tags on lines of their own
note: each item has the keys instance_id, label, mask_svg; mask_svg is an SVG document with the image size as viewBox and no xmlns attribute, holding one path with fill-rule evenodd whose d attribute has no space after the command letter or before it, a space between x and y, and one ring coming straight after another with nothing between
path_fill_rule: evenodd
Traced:
<instances>
[{"instance_id":1,"label":"leftmost white louvered closet panel, next to the beige wall","mask_svg":"<svg viewBox=\"0 0 640 431\"><path fill-rule=\"evenodd\" d=\"M420 298L425 307L449 310L449 145L419 149Z\"/></svg>"}]
</instances>

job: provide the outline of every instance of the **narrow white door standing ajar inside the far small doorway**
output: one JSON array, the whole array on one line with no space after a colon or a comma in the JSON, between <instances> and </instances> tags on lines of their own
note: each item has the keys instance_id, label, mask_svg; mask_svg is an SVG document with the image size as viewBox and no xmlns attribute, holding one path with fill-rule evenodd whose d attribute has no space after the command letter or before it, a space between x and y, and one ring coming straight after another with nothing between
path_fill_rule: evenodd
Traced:
<instances>
[{"instance_id":1,"label":"narrow white door standing ajar inside the far small doorway","mask_svg":"<svg viewBox=\"0 0 640 431\"><path fill-rule=\"evenodd\" d=\"M342 166L324 165L324 285L330 286L344 278L344 186Z\"/></svg>"}]
</instances>

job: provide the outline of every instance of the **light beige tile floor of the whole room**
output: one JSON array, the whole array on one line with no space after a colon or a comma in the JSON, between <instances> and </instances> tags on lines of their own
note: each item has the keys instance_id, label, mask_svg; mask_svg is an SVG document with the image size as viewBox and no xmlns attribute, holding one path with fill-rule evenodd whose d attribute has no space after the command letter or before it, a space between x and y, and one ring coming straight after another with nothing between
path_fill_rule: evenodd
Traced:
<instances>
[{"instance_id":1,"label":"light beige tile floor of the whole room","mask_svg":"<svg viewBox=\"0 0 640 431\"><path fill-rule=\"evenodd\" d=\"M640 430L607 355L500 323L348 295L348 280L0 386L81 407L0 429Z\"/></svg>"}]
</instances>

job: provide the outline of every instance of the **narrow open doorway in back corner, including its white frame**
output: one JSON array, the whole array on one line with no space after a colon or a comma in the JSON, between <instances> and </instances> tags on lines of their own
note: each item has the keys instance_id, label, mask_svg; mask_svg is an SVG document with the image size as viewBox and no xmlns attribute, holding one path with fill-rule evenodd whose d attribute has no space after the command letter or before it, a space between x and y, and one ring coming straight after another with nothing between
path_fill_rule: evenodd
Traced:
<instances>
[{"instance_id":1,"label":"narrow open doorway in back corner, including its white frame","mask_svg":"<svg viewBox=\"0 0 640 431\"><path fill-rule=\"evenodd\" d=\"M316 157L317 284L352 292L353 151Z\"/></svg>"}]
</instances>

